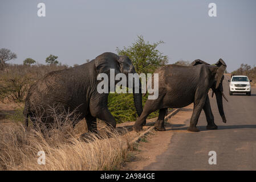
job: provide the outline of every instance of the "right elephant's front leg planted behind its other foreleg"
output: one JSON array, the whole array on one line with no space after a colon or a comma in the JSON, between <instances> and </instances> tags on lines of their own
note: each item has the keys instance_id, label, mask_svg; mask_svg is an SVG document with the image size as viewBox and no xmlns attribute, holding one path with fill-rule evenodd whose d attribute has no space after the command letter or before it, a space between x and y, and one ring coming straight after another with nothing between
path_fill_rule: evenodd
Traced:
<instances>
[{"instance_id":1,"label":"right elephant's front leg planted behind its other foreleg","mask_svg":"<svg viewBox=\"0 0 256 182\"><path fill-rule=\"evenodd\" d=\"M188 131L200 131L199 129L197 129L197 122L198 118L200 117L202 108L205 105L206 95L202 96L199 99L197 99L198 97L196 96L195 98L196 100L194 101L193 114L192 117L190 118L190 126L188 127Z\"/></svg>"}]
</instances>

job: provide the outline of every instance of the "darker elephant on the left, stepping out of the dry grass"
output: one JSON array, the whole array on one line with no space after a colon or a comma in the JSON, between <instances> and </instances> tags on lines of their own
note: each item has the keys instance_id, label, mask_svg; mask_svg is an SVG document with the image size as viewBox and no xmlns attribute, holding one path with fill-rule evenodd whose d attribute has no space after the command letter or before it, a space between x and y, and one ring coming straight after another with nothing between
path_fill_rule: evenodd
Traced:
<instances>
[{"instance_id":1,"label":"darker elephant on the left, stepping out of the dry grass","mask_svg":"<svg viewBox=\"0 0 256 182\"><path fill-rule=\"evenodd\" d=\"M50 106L57 106L57 114L62 113L63 110L66 113L75 110L74 115L79 114L73 126L86 118L88 131L96 133L96 118L99 118L115 128L116 121L107 106L108 93L97 92L97 84L101 81L97 80L97 76L99 73L106 73L109 79L109 69L115 69L115 75L125 73L127 78L128 73L136 73L127 56L117 56L111 52L105 52L78 67L48 73L29 89L23 111L26 125L29 117L35 123L34 116L42 117L44 123L54 122L51 117L52 111L48 109ZM108 80L108 86L109 83ZM133 98L137 114L140 115L143 110L141 93L133 94Z\"/></svg>"}]
</instances>

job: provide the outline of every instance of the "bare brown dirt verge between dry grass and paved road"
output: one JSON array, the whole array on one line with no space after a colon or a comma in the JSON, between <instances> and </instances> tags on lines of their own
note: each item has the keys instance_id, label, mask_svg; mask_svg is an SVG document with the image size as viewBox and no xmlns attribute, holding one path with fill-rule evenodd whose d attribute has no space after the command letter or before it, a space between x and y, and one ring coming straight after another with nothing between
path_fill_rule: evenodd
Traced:
<instances>
[{"instance_id":1,"label":"bare brown dirt verge between dry grass and paved road","mask_svg":"<svg viewBox=\"0 0 256 182\"><path fill-rule=\"evenodd\" d=\"M139 143L139 150L133 151L133 160L124 165L121 170L143 170L145 166L156 162L156 156L168 148L173 134L176 132L189 132L186 130L185 121L190 119L193 105L182 108L176 115L165 122L166 131L152 130L147 138Z\"/></svg>"}]
</instances>

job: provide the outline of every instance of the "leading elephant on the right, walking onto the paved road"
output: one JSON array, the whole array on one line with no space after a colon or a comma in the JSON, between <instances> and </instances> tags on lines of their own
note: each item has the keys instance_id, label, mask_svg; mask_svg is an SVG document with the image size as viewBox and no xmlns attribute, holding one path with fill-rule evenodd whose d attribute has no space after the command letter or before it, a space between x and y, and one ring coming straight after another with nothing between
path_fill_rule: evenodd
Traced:
<instances>
[{"instance_id":1,"label":"leading elephant on the right, walking onto the paved road","mask_svg":"<svg viewBox=\"0 0 256 182\"><path fill-rule=\"evenodd\" d=\"M164 117L167 109L185 107L192 103L194 103L194 108L188 130L200 131L196 125L202 109L205 111L208 123L206 128L216 130L218 127L214 123L208 91L212 88L216 94L219 113L222 121L226 122L222 105L222 96L224 96L222 80L225 69L226 64L222 59L216 65L195 60L189 67L166 65L158 69L155 73L159 73L159 97L156 100L146 101L143 113L137 118L133 130L141 131L147 116L159 109L159 118L155 127L159 131L165 131Z\"/></svg>"}]
</instances>

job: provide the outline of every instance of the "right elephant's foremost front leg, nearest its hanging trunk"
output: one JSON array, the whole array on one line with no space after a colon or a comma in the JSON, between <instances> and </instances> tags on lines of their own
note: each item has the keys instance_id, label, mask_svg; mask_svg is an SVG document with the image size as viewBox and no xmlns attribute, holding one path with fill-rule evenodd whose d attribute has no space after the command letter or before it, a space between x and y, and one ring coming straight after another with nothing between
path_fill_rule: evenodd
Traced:
<instances>
[{"instance_id":1,"label":"right elephant's foremost front leg, nearest its hanging trunk","mask_svg":"<svg viewBox=\"0 0 256 182\"><path fill-rule=\"evenodd\" d=\"M206 121L207 121L207 126L206 129L208 130L217 130L218 126L215 125L214 123L214 116L212 113L212 109L210 107L210 100L209 100L209 96L206 96L206 100L205 100L205 105L203 107L204 112L205 112L205 116L206 116Z\"/></svg>"}]
</instances>

